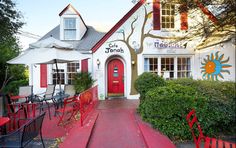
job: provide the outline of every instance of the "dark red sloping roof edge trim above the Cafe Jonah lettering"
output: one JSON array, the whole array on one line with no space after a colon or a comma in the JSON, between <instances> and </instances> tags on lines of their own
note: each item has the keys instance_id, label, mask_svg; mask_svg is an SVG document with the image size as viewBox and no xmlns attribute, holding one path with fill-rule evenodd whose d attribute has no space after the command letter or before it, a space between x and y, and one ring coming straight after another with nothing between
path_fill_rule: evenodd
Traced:
<instances>
[{"instance_id":1,"label":"dark red sloping roof edge trim above the Cafe Jonah lettering","mask_svg":"<svg viewBox=\"0 0 236 148\"><path fill-rule=\"evenodd\" d=\"M104 42L118 29L121 25L123 25L129 17L134 14L143 4L145 3L145 0L140 0L114 27L111 28L110 31L107 32L103 36L103 38L97 42L97 44L92 48L93 52L96 52L99 47L102 46Z\"/></svg>"}]
</instances>

